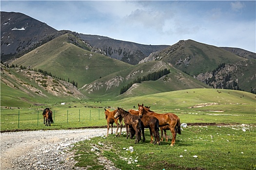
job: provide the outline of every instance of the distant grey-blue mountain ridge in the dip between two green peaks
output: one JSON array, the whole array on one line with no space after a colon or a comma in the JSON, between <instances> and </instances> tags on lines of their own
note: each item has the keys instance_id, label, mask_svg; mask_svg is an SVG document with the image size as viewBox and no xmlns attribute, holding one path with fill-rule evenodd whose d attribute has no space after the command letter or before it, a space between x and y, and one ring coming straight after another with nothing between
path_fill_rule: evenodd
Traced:
<instances>
[{"instance_id":1,"label":"distant grey-blue mountain ridge in the dip between two green peaks","mask_svg":"<svg viewBox=\"0 0 256 170\"><path fill-rule=\"evenodd\" d=\"M132 65L138 64L140 60L149 56L152 52L169 47L167 45L142 45L99 35L79 34L79 36L93 47L102 49L107 56Z\"/></svg>"}]
</instances>

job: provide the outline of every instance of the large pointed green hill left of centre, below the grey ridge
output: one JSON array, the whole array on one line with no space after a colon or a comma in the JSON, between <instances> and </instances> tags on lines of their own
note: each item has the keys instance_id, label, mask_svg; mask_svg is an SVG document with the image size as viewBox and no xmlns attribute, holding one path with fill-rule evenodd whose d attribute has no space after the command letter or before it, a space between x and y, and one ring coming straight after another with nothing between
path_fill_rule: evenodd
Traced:
<instances>
[{"instance_id":1,"label":"large pointed green hill left of centre, below the grey ridge","mask_svg":"<svg viewBox=\"0 0 256 170\"><path fill-rule=\"evenodd\" d=\"M130 67L127 63L94 53L87 46L82 48L71 43L65 34L23 55L10 65L43 69L56 77L78 82L78 87L91 83L123 68ZM76 38L79 42L80 40ZM73 41L72 41L73 42ZM80 41L79 44L83 42Z\"/></svg>"}]
</instances>

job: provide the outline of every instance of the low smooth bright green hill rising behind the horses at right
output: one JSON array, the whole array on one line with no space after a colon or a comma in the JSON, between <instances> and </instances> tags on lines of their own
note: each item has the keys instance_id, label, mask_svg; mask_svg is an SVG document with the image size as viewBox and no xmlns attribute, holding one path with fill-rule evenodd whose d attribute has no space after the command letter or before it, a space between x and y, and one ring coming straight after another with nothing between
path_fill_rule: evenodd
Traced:
<instances>
[{"instance_id":1,"label":"low smooth bright green hill rising behind the horses at right","mask_svg":"<svg viewBox=\"0 0 256 170\"><path fill-rule=\"evenodd\" d=\"M255 119L255 94L226 89L197 88L170 91L158 94L130 97L115 102L116 106L131 109L138 108L139 104L150 106L150 109L158 113L184 113L184 114L230 114L251 115ZM180 115L180 117L186 117ZM238 118L234 118L238 119ZM253 120L254 119L254 120ZM234 121L233 121L234 122Z\"/></svg>"}]
</instances>

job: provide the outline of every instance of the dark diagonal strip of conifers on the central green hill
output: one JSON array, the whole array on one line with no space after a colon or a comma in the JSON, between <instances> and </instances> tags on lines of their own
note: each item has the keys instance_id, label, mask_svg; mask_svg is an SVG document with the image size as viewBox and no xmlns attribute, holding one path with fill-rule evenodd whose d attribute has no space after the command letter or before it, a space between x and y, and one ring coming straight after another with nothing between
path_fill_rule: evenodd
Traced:
<instances>
[{"instance_id":1,"label":"dark diagonal strip of conifers on the central green hill","mask_svg":"<svg viewBox=\"0 0 256 170\"><path fill-rule=\"evenodd\" d=\"M141 82L150 81L150 80L155 81L155 80L158 80L159 78L161 78L162 76L169 74L170 72L171 72L170 69L164 68L162 70L149 73L149 74L143 76L142 78L139 77L139 78L135 79L133 82L129 83L128 85L123 86L120 89L120 94L123 94L124 92L126 92L135 83L141 83Z\"/></svg>"}]
</instances>

